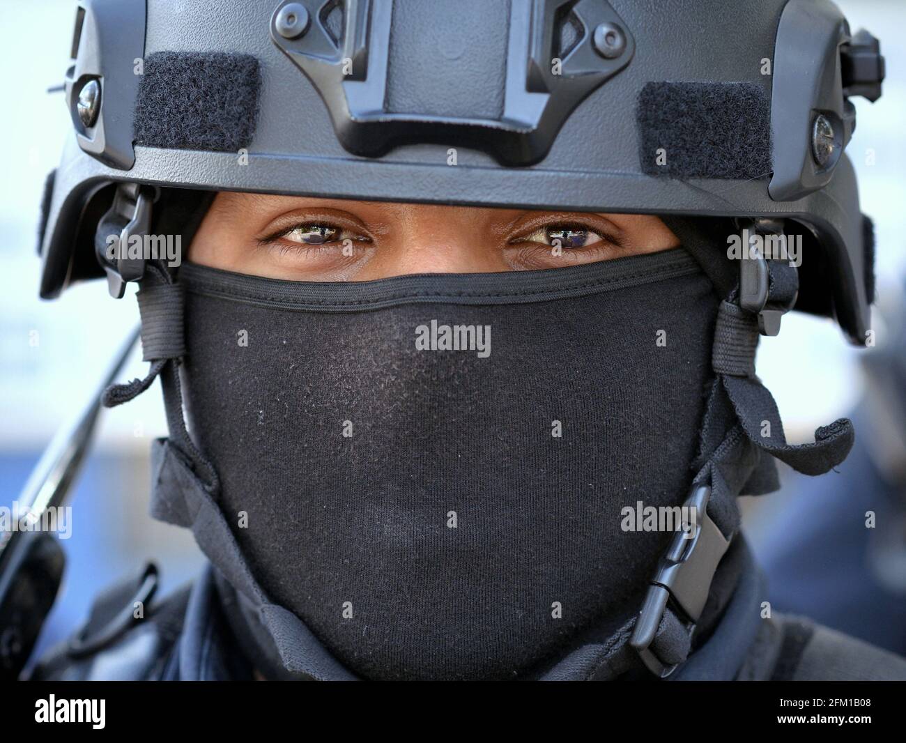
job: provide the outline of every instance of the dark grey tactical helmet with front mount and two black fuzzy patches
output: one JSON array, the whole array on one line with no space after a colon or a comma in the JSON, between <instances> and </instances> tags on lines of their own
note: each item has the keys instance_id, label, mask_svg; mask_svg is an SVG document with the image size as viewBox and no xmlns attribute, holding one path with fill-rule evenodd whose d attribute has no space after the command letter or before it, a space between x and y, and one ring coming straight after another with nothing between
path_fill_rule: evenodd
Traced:
<instances>
[{"instance_id":1,"label":"dark grey tactical helmet with front mount and two black fuzzy patches","mask_svg":"<svg viewBox=\"0 0 906 743\"><path fill-rule=\"evenodd\" d=\"M828 0L81 0L72 60L43 297L171 188L770 217L805 227L796 307L865 342L843 150L883 58Z\"/></svg>"}]
</instances>

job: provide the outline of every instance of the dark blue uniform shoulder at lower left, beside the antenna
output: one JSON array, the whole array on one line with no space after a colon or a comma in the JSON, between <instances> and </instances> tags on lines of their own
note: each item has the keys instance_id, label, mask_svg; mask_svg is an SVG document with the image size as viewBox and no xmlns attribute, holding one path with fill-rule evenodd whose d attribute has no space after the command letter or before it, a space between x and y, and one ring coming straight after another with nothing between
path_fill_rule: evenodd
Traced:
<instances>
[{"instance_id":1,"label":"dark blue uniform shoulder at lower left, beside the antenna","mask_svg":"<svg viewBox=\"0 0 906 743\"><path fill-rule=\"evenodd\" d=\"M157 570L101 593L88 621L38 661L32 680L156 680L167 678L188 605L190 586L152 601ZM137 616L138 615L138 616Z\"/></svg>"}]
</instances>

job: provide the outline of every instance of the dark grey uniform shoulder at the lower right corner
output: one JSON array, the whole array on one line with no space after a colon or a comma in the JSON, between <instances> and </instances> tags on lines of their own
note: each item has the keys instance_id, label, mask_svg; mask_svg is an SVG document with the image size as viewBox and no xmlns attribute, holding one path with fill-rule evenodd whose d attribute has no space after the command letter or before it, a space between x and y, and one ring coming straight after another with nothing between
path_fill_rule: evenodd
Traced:
<instances>
[{"instance_id":1,"label":"dark grey uniform shoulder at the lower right corner","mask_svg":"<svg viewBox=\"0 0 906 743\"><path fill-rule=\"evenodd\" d=\"M906 680L906 658L802 617L776 619L773 680Z\"/></svg>"}]
</instances>

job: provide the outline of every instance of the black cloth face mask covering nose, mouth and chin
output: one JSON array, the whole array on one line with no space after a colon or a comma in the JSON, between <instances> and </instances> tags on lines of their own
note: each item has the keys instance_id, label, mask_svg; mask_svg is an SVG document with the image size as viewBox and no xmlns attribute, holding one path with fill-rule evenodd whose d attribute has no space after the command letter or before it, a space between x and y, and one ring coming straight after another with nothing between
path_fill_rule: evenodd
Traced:
<instances>
[{"instance_id":1,"label":"black cloth face mask covering nose, mouth and chin","mask_svg":"<svg viewBox=\"0 0 906 743\"><path fill-rule=\"evenodd\" d=\"M682 249L296 283L183 266L184 381L268 598L366 679L524 677L636 612L718 297Z\"/></svg>"}]
</instances>

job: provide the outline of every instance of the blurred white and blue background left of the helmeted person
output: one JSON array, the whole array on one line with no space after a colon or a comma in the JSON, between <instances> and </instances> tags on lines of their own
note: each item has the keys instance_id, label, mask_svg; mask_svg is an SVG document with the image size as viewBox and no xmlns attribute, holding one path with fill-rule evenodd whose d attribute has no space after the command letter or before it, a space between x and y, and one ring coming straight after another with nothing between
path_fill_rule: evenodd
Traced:
<instances>
[{"instance_id":1,"label":"blurred white and blue background left of the helmeted person","mask_svg":"<svg viewBox=\"0 0 906 743\"><path fill-rule=\"evenodd\" d=\"M78 285L53 302L38 298L37 225L44 179L59 162L72 121L63 92L73 0L4 0L0 67L16 79L15 113L0 121L9 143L0 180L0 505L18 496L53 432L88 401L117 349L138 326L135 288L120 301L105 282ZM29 29L40 26L35 44ZM143 377L132 354L122 381ZM154 560L159 594L198 573L202 557L186 529L148 516L150 442L167 435L159 382L128 405L101 412L98 438L70 497L66 573L37 652L81 626L94 597Z\"/></svg>"}]
</instances>

